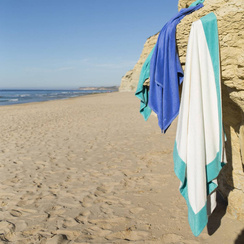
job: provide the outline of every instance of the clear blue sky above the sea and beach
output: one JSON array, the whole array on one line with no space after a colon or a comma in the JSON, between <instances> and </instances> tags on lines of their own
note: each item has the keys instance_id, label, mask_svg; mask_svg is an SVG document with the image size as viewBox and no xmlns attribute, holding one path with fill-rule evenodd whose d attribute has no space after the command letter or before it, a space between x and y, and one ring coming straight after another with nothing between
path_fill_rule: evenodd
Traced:
<instances>
[{"instance_id":1,"label":"clear blue sky above the sea and beach","mask_svg":"<svg viewBox=\"0 0 244 244\"><path fill-rule=\"evenodd\" d=\"M178 0L1 0L0 89L119 86Z\"/></svg>"}]
</instances>

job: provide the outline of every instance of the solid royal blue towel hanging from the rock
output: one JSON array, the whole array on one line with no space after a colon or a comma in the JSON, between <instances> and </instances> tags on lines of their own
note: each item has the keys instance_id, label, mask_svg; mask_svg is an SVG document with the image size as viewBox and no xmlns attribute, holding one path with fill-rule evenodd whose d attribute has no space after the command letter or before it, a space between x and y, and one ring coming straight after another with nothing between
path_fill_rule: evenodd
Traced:
<instances>
[{"instance_id":1,"label":"solid royal blue towel hanging from the rock","mask_svg":"<svg viewBox=\"0 0 244 244\"><path fill-rule=\"evenodd\" d=\"M149 107L157 114L158 124L166 132L179 113L179 85L183 70L176 49L176 26L186 15L203 7L184 8L165 24L159 33L150 64Z\"/></svg>"}]
</instances>

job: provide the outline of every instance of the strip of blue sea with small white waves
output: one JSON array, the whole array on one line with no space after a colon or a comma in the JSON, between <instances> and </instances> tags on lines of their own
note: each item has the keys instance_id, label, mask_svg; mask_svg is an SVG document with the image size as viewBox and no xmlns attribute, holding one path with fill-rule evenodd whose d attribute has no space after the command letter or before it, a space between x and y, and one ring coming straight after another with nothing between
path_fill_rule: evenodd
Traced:
<instances>
[{"instance_id":1,"label":"strip of blue sea with small white waves","mask_svg":"<svg viewBox=\"0 0 244 244\"><path fill-rule=\"evenodd\" d=\"M0 90L0 106L80 97L112 90Z\"/></svg>"}]
</instances>

